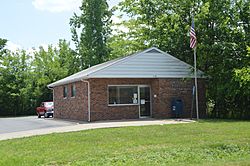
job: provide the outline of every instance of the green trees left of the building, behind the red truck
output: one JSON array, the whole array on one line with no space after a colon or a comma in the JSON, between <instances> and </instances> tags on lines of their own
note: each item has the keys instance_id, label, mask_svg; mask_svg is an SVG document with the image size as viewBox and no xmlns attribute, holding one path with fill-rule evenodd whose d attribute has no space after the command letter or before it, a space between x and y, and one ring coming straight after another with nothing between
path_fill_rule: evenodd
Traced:
<instances>
[{"instance_id":1,"label":"green trees left of the building, behind the red truck","mask_svg":"<svg viewBox=\"0 0 250 166\"><path fill-rule=\"evenodd\" d=\"M42 101L53 99L49 83L79 70L65 40L34 53L6 51L0 60L0 116L34 114Z\"/></svg>"}]
</instances>

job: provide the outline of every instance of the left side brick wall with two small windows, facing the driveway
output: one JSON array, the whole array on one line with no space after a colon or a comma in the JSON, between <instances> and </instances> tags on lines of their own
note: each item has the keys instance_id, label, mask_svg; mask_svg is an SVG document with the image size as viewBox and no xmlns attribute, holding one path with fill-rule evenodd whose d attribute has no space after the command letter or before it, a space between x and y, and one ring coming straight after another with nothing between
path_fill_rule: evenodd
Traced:
<instances>
[{"instance_id":1,"label":"left side brick wall with two small windows, facing the driveway","mask_svg":"<svg viewBox=\"0 0 250 166\"><path fill-rule=\"evenodd\" d=\"M63 97L63 87L68 87L67 98ZM88 120L87 83L76 82L76 96L71 97L71 84L54 88L54 117L72 120Z\"/></svg>"}]
</instances>

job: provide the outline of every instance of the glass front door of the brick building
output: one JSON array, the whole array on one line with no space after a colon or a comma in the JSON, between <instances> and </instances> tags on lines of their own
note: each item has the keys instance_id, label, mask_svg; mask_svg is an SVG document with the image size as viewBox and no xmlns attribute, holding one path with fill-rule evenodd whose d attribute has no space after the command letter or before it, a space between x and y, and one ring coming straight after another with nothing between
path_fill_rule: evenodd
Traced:
<instances>
[{"instance_id":1,"label":"glass front door of the brick building","mask_svg":"<svg viewBox=\"0 0 250 166\"><path fill-rule=\"evenodd\" d=\"M149 117L151 116L151 106L150 106L150 87L142 86L139 87L140 93L140 117Z\"/></svg>"}]
</instances>

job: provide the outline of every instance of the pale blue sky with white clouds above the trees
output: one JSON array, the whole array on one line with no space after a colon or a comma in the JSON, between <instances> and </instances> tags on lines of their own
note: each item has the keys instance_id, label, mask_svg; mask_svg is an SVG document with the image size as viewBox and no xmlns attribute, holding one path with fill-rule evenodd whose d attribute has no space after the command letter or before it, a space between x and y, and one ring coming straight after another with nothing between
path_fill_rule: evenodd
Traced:
<instances>
[{"instance_id":1,"label":"pale blue sky with white clouds above the trees","mask_svg":"<svg viewBox=\"0 0 250 166\"><path fill-rule=\"evenodd\" d=\"M110 7L120 1L107 0ZM0 38L11 50L71 41L69 19L80 5L81 0L2 0Z\"/></svg>"}]
</instances>

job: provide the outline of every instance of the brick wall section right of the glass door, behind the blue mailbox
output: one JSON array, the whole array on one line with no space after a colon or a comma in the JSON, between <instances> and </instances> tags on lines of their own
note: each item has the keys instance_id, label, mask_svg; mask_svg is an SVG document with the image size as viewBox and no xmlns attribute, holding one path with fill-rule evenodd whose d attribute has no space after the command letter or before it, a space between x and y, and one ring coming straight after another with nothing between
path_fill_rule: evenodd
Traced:
<instances>
[{"instance_id":1,"label":"brick wall section right of the glass door, behind the blue mailbox","mask_svg":"<svg viewBox=\"0 0 250 166\"><path fill-rule=\"evenodd\" d=\"M173 117L171 112L171 102L174 98L183 101L183 115L181 118L191 118L192 107L192 87L194 80L191 79L159 79L155 83L157 89L155 93L157 98L153 100L153 117L169 118ZM200 117L206 117L206 97L205 97L205 80L198 80L199 92L199 113ZM196 117L195 102L192 117Z\"/></svg>"}]
</instances>

